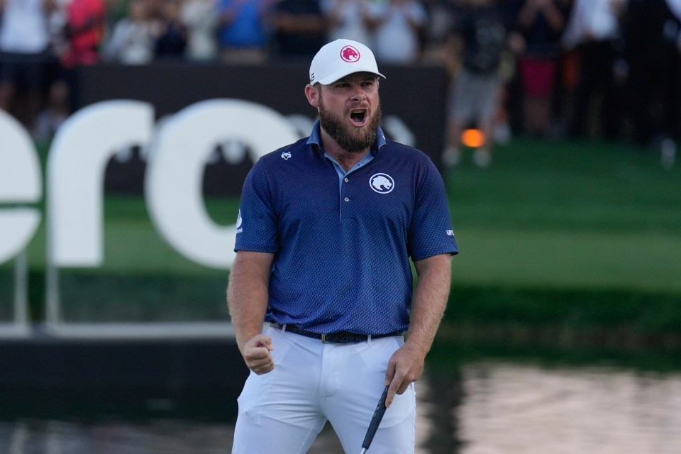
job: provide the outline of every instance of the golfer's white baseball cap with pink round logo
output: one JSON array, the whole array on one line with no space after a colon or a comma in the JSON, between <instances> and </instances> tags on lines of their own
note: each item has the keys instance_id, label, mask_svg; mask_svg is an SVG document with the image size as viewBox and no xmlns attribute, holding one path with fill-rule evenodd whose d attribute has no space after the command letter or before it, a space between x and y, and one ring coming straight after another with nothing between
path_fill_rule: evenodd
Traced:
<instances>
[{"instance_id":1,"label":"golfer's white baseball cap with pink round logo","mask_svg":"<svg viewBox=\"0 0 681 454\"><path fill-rule=\"evenodd\" d=\"M328 85L353 72L378 72L374 53L370 48L353 40L335 40L323 45L310 65L310 84Z\"/></svg>"}]
</instances>

